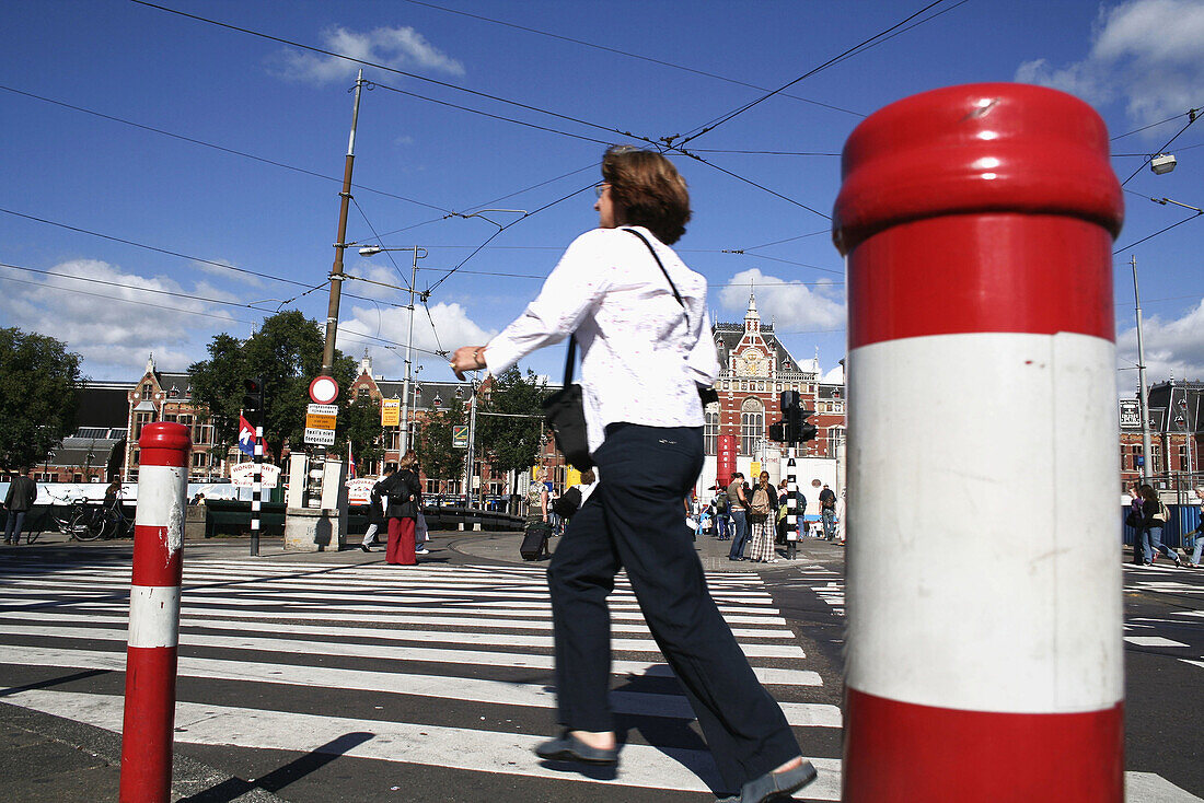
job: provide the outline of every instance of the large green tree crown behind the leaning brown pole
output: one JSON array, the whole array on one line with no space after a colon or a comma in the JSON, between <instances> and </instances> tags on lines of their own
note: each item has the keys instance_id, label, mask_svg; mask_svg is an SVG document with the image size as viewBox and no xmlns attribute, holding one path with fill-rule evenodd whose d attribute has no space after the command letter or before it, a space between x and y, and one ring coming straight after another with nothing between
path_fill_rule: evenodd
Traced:
<instances>
[{"instance_id":1,"label":"large green tree crown behind the leaning brown pole","mask_svg":"<svg viewBox=\"0 0 1204 803\"><path fill-rule=\"evenodd\" d=\"M224 445L237 441L243 379L262 377L264 437L270 451L279 454L285 443L291 449L303 448L309 382L321 371L324 341L318 323L296 309L265 318L259 331L246 341L225 333L214 337L208 346L209 359L188 368L193 398L209 406L214 439ZM334 374L342 417L348 405L347 389L355 378L355 361L337 349Z\"/></svg>"}]
</instances>

